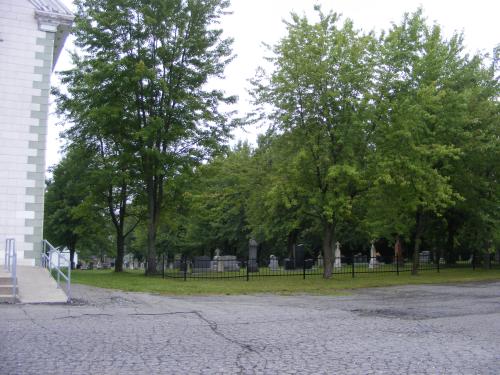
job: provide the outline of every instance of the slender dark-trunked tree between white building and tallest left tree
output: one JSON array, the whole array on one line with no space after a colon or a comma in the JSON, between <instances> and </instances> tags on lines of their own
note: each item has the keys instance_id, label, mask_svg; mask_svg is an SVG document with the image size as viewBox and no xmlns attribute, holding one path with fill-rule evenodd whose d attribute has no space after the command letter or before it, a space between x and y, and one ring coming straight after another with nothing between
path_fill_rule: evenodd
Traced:
<instances>
[{"instance_id":1,"label":"slender dark-trunked tree between white building and tallest left tree","mask_svg":"<svg viewBox=\"0 0 500 375\"><path fill-rule=\"evenodd\" d=\"M78 68L63 73L63 82L71 83L69 94L54 90L58 111L73 121L64 133L70 153L87 154L85 176L88 183L86 202L107 214L115 231L115 271L123 270L125 239L139 223L140 212L128 209L137 195L137 161L120 127L124 111L115 87L102 85L99 77L90 77ZM100 95L95 95L99 92ZM129 225L129 221L132 224Z\"/></svg>"}]
</instances>

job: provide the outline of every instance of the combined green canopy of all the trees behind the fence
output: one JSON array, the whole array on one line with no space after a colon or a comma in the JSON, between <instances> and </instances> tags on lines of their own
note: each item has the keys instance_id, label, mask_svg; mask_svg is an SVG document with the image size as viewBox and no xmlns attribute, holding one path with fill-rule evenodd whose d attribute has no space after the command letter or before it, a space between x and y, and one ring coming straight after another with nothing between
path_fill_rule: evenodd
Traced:
<instances>
[{"instance_id":1,"label":"combined green canopy of all the trees behind the fence","mask_svg":"<svg viewBox=\"0 0 500 375\"><path fill-rule=\"evenodd\" d=\"M77 5L82 52L56 93L68 142L94 155L95 183L79 190L107 192L115 228L121 208L142 219L116 238L131 233L148 273L158 252L245 257L249 238L261 257L305 243L325 277L336 241L354 254L401 239L415 272L422 249L453 262L500 245L498 49L465 53L422 10L380 35L319 8L314 21L292 13L252 81L248 118L270 126L228 148L220 107L234 98L207 85L231 60L226 1Z\"/></svg>"}]
</instances>

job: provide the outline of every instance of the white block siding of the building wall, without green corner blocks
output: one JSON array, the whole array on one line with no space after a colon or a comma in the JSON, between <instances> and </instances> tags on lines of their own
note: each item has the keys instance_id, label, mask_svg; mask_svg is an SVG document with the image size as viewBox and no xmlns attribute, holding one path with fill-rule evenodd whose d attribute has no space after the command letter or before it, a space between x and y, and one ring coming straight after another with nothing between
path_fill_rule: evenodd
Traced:
<instances>
[{"instance_id":1,"label":"white block siding of the building wall, without green corner blocks","mask_svg":"<svg viewBox=\"0 0 500 375\"><path fill-rule=\"evenodd\" d=\"M19 263L29 265L34 260L25 259L24 252L33 250L33 244L25 242L25 235L32 235L33 227L26 220L33 219L35 211L26 210L27 203L34 203L26 188L35 185L28 172L36 170L28 162L28 156L36 156L29 142L39 137L30 131L39 125L31 111L41 109L32 103L33 96L41 94L33 82L42 79L35 67L43 61L35 56L44 50L37 38L45 38L45 32L38 30L33 6L26 0L0 1L0 261L5 238L14 237Z\"/></svg>"}]
</instances>

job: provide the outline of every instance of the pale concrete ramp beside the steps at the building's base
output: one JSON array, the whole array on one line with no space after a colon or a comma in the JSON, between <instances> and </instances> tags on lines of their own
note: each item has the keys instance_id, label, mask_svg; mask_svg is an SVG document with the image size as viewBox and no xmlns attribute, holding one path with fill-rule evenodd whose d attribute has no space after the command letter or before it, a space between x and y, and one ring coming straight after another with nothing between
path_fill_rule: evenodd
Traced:
<instances>
[{"instance_id":1,"label":"pale concrete ramp beside the steps at the building's base","mask_svg":"<svg viewBox=\"0 0 500 375\"><path fill-rule=\"evenodd\" d=\"M65 282L61 282L65 288ZM17 266L18 300L21 303L66 303L68 297L57 287L49 271L41 267Z\"/></svg>"}]
</instances>

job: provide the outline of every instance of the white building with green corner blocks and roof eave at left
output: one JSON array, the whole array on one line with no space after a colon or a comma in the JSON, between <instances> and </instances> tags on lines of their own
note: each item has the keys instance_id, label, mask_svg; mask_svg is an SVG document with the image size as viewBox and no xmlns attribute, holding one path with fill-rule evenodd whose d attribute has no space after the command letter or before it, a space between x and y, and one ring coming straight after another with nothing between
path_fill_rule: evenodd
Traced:
<instances>
[{"instance_id":1,"label":"white building with green corner blocks and roof eave at left","mask_svg":"<svg viewBox=\"0 0 500 375\"><path fill-rule=\"evenodd\" d=\"M0 0L0 256L39 265L50 76L73 14L59 0Z\"/></svg>"}]
</instances>

